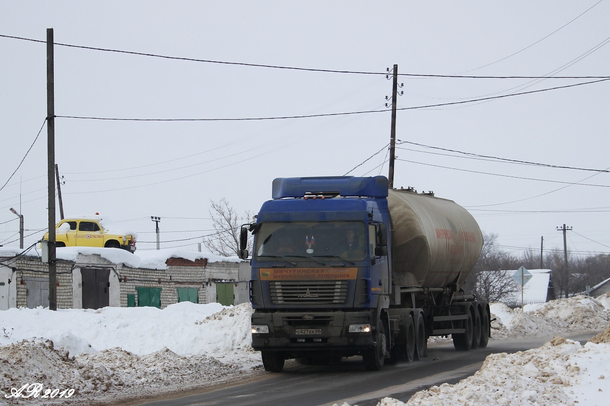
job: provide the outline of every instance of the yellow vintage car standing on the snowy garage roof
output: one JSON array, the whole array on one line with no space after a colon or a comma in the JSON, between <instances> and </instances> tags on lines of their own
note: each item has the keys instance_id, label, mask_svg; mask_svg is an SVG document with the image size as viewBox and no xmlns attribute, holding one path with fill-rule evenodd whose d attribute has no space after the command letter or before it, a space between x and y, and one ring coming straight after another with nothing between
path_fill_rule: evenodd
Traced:
<instances>
[{"instance_id":1,"label":"yellow vintage car standing on the snowy garage roof","mask_svg":"<svg viewBox=\"0 0 610 406\"><path fill-rule=\"evenodd\" d=\"M63 219L55 228L57 247L104 247L135 251L137 234L120 229L114 223L105 222L98 215ZM45 233L43 240L49 239Z\"/></svg>"}]
</instances>

